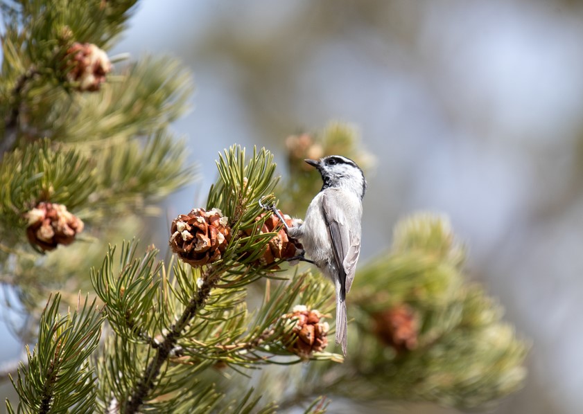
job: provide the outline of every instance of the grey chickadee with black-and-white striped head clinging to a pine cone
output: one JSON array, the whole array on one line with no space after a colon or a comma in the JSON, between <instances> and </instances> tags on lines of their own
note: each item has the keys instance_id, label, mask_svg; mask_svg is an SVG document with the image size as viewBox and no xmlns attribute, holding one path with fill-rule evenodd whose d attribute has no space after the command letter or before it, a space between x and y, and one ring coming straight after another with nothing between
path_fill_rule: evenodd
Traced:
<instances>
[{"instance_id":1,"label":"grey chickadee with black-and-white striped head clinging to a pine cone","mask_svg":"<svg viewBox=\"0 0 583 414\"><path fill-rule=\"evenodd\" d=\"M345 156L330 155L319 161L306 159L317 168L324 185L313 198L306 218L287 226L288 235L304 245L305 253L336 287L336 343L347 351L346 294L350 291L360 253L360 219L367 182L363 170Z\"/></svg>"}]
</instances>

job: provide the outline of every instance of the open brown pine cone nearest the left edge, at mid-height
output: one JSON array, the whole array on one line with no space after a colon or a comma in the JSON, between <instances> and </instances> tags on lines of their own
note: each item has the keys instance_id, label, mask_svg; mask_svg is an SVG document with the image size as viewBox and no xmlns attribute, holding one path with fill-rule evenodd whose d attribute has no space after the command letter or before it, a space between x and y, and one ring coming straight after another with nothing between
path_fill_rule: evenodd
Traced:
<instances>
[{"instance_id":1,"label":"open brown pine cone nearest the left edge, at mid-height","mask_svg":"<svg viewBox=\"0 0 583 414\"><path fill-rule=\"evenodd\" d=\"M43 251L53 250L58 244L71 244L83 231L83 222L62 204L43 201L24 216L28 219L28 240Z\"/></svg>"}]
</instances>

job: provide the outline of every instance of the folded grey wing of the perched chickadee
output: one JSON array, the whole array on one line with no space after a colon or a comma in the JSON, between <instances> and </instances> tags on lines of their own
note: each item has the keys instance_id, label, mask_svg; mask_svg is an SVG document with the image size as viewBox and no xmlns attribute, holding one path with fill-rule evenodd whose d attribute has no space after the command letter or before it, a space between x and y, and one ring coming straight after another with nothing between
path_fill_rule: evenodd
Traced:
<instances>
[{"instance_id":1,"label":"folded grey wing of the perched chickadee","mask_svg":"<svg viewBox=\"0 0 583 414\"><path fill-rule=\"evenodd\" d=\"M345 208L341 207L343 202L345 201L342 200L340 192L330 192L322 197L322 213L332 239L332 251L343 288L342 293L346 295L354 280L360 253L360 231L358 233L350 231L349 217L345 215Z\"/></svg>"}]
</instances>

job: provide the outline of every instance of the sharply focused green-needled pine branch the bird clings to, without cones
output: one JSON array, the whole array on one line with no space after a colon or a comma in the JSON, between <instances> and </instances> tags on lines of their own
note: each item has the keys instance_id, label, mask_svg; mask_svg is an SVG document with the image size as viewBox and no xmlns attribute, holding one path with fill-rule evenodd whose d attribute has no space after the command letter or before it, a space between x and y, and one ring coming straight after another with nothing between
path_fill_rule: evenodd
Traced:
<instances>
[{"instance_id":1,"label":"sharply focused green-needled pine branch the bird clings to, without cones","mask_svg":"<svg viewBox=\"0 0 583 414\"><path fill-rule=\"evenodd\" d=\"M234 147L225 156L224 163L219 164L223 174L215 187L225 191L211 190L209 201L233 213L225 217L225 222L231 224L234 237L220 258L197 268L175 264L173 273L168 273L162 263L155 263L155 251L148 251L138 260L134 258L135 247L124 244L119 271L112 267L114 249L110 249L101 270L92 272L94 288L107 304L112 330L125 339L115 342L114 348L120 348L112 352L132 355L124 361L109 359L111 367L126 372L123 382L108 374L124 413L142 410L146 404L162 409L160 395L184 389L194 372L216 362L252 368L268 362L302 361L274 358L293 354L288 349L289 341L283 339L293 337L290 331L295 324L290 325L288 312L296 300L308 300L308 305L323 305L324 300L329 303L329 285L313 283L312 289L303 289L303 276L290 289L282 284L269 294L255 321L246 317L245 286L273 273L257 262L276 233L256 231L265 220L263 217L258 223L263 210L256 200L272 189L275 165L266 150L254 152L247 160L244 150ZM238 179L232 179L234 174ZM235 230L246 228L254 231ZM250 323L253 328L246 333ZM313 355L314 359L333 357L326 353ZM134 359L140 361L139 366L128 365ZM100 368L100 372L105 371ZM106 397L107 391L102 395Z\"/></svg>"}]
</instances>

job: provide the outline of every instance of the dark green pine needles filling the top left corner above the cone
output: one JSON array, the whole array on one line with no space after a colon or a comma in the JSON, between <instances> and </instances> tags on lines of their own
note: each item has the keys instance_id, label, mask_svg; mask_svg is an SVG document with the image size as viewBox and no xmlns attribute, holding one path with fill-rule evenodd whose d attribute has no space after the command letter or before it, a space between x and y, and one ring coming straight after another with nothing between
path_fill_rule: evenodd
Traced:
<instances>
[{"instance_id":1,"label":"dark green pine needles filling the top left corner above the cone","mask_svg":"<svg viewBox=\"0 0 583 414\"><path fill-rule=\"evenodd\" d=\"M3 62L0 77L0 132L26 128L46 135L51 131L53 105L71 100L64 90L67 64L63 63L73 42L109 48L123 30L135 0L125 1L2 1L4 30L1 33ZM28 113L26 125L19 112ZM53 112L54 114L54 112ZM62 114L62 113L61 113ZM10 139L12 141L12 139ZM4 143L7 148L12 142Z\"/></svg>"}]
</instances>

